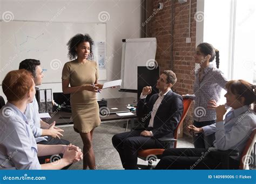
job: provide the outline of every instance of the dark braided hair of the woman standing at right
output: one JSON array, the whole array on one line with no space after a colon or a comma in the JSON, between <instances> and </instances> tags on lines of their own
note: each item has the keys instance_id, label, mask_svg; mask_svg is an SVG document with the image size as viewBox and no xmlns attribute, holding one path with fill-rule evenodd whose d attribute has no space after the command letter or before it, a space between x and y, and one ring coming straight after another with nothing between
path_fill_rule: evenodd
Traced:
<instances>
[{"instance_id":1,"label":"dark braided hair of the woman standing at right","mask_svg":"<svg viewBox=\"0 0 256 184\"><path fill-rule=\"evenodd\" d=\"M219 63L220 63L220 59L219 59L219 51L217 49L215 49L211 44L208 43L201 43L198 45L198 47L200 48L200 52L208 55L211 55L210 58L210 62L212 62L215 59L216 56L216 66L217 68L219 68Z\"/></svg>"}]
</instances>

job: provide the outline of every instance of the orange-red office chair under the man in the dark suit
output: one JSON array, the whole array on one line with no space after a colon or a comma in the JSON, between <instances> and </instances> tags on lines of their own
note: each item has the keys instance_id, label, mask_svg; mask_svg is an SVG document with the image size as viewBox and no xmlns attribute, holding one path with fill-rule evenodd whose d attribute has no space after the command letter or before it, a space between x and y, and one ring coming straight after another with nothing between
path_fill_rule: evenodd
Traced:
<instances>
[{"instance_id":1,"label":"orange-red office chair under the man in the dark suit","mask_svg":"<svg viewBox=\"0 0 256 184\"><path fill-rule=\"evenodd\" d=\"M176 128L176 130L174 131L174 138L159 138L158 140L160 140L161 142L163 142L163 144L165 145L166 148L171 148L172 147L172 143L174 142L174 148L177 147L177 139L178 139L178 130L180 128L180 125L183 124L183 121L187 115L188 110L190 109L192 100L191 99L183 99L183 114L181 116L180 122L178 123L178 126ZM161 158L161 155L164 152L164 148L153 148L153 149L147 149L147 150L140 150L138 152L138 158L143 159L145 161L147 161L147 166L146 165L139 165L139 168L151 168L152 167L152 163L154 161L156 161L157 159Z\"/></svg>"}]
</instances>

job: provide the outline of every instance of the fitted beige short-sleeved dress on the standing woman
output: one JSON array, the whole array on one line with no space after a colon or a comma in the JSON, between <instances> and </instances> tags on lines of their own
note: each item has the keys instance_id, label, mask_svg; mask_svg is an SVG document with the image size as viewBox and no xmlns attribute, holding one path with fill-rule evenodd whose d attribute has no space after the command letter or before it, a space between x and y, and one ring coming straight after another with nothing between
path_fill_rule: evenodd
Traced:
<instances>
[{"instance_id":1,"label":"fitted beige short-sleeved dress on the standing woman","mask_svg":"<svg viewBox=\"0 0 256 184\"><path fill-rule=\"evenodd\" d=\"M98 79L96 61L79 63L77 60L66 62L62 70L62 80L69 80L71 87L95 83ZM70 94L74 130L88 133L100 125L99 105L96 93L83 90Z\"/></svg>"}]
</instances>

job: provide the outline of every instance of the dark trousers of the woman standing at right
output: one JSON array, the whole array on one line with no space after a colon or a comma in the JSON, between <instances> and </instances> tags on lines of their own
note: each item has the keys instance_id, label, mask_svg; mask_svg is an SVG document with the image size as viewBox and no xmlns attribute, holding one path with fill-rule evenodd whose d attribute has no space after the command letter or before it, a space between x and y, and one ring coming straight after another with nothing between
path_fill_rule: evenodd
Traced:
<instances>
[{"instance_id":1,"label":"dark trousers of the woman standing at right","mask_svg":"<svg viewBox=\"0 0 256 184\"><path fill-rule=\"evenodd\" d=\"M197 122L194 121L193 125L197 128L201 128L203 126L214 124L215 120L213 121L206 121L206 122ZM197 133L197 136L193 137L194 147L195 148L209 148L213 146L213 141L215 140L215 133L209 136L204 136L204 133Z\"/></svg>"}]
</instances>

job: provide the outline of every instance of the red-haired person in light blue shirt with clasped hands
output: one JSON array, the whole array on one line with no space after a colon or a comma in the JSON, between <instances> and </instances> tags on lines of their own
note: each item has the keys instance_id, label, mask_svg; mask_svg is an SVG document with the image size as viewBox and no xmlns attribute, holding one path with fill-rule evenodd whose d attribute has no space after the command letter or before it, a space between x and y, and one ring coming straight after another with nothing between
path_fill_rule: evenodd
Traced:
<instances>
[{"instance_id":1,"label":"red-haired person in light blue shirt with clasped hands","mask_svg":"<svg viewBox=\"0 0 256 184\"><path fill-rule=\"evenodd\" d=\"M24 115L36 94L32 75L25 69L9 72L2 82L8 100L0 112L0 169L61 169L83 158L74 145L37 145ZM63 158L39 164L37 156L63 153Z\"/></svg>"}]
</instances>

